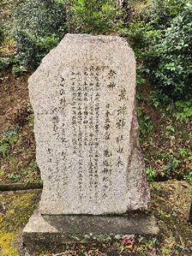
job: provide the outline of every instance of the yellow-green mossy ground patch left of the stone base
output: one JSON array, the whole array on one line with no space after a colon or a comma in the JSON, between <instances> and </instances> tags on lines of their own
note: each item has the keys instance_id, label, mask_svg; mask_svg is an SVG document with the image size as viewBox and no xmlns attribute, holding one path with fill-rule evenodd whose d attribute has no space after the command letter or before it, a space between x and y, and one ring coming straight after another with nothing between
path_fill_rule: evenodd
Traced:
<instances>
[{"instance_id":1,"label":"yellow-green mossy ground patch left of the stone base","mask_svg":"<svg viewBox=\"0 0 192 256\"><path fill-rule=\"evenodd\" d=\"M0 194L0 255L17 256L19 251L13 243L17 234L28 222L37 207L39 191L2 192Z\"/></svg>"}]
</instances>

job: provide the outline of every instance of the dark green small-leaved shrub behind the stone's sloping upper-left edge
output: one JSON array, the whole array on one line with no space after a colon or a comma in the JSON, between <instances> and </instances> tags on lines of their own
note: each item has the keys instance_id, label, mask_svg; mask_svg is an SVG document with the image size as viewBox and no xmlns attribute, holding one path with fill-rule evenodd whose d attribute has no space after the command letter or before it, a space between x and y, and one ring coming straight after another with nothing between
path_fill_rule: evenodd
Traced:
<instances>
[{"instance_id":1,"label":"dark green small-leaved shrub behind the stone's sloping upper-left edge","mask_svg":"<svg viewBox=\"0 0 192 256\"><path fill-rule=\"evenodd\" d=\"M17 1L13 7L13 35L20 65L35 69L64 37L65 20L63 1Z\"/></svg>"}]
</instances>

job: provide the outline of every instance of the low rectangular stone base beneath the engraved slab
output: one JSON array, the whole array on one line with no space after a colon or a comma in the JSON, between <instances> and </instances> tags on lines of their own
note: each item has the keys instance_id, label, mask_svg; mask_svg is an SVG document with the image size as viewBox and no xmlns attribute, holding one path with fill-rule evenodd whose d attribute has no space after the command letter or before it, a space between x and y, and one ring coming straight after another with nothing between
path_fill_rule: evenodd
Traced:
<instances>
[{"instance_id":1,"label":"low rectangular stone base beneath the engraved slab","mask_svg":"<svg viewBox=\"0 0 192 256\"><path fill-rule=\"evenodd\" d=\"M23 244L28 251L65 243L106 242L125 234L155 236L156 219L144 213L128 215L40 215L38 209L23 230Z\"/></svg>"}]
</instances>

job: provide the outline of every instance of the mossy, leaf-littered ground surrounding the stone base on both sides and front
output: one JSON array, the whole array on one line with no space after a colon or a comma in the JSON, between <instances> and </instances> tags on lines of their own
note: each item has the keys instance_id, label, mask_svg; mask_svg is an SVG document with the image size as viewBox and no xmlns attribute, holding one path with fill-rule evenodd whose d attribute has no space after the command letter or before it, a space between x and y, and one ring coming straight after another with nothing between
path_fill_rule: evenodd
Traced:
<instances>
[{"instance_id":1,"label":"mossy, leaf-littered ground surrounding the stone base on both sides and front","mask_svg":"<svg viewBox=\"0 0 192 256\"><path fill-rule=\"evenodd\" d=\"M21 232L37 207L41 190L1 192L0 194L0 255L27 256L22 248ZM50 255L192 255L192 225L188 223L192 186L186 181L151 183L151 211L158 220L157 237L127 235L125 239L89 245L64 245ZM127 231L128 233L128 231Z\"/></svg>"}]
</instances>

